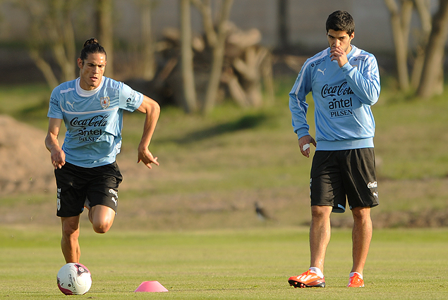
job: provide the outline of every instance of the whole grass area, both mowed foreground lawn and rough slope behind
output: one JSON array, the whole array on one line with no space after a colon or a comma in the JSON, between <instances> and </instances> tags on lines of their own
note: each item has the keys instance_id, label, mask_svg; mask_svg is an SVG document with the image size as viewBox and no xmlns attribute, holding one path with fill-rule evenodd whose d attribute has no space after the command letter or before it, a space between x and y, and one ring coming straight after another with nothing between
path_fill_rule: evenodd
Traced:
<instances>
[{"instance_id":1,"label":"whole grass area, both mowed foreground lawn and rough slope behind","mask_svg":"<svg viewBox=\"0 0 448 300\"><path fill-rule=\"evenodd\" d=\"M292 84L277 82L274 105L258 110L223 104L204 118L162 108L150 148L161 165L150 171L135 164L143 115L127 113L119 214L106 235L93 233L83 216L81 263L93 285L77 298L447 299L448 92L420 101L385 85L373 106L380 206L366 287L345 287L346 213L332 217L327 287L293 289L286 280L309 263L311 160L301 157L291 129ZM46 130L48 97L42 86L0 87L0 113ZM54 198L54 191L0 194L0 299L63 296ZM276 220L260 222L254 201ZM169 292L133 292L147 280Z\"/></svg>"}]
</instances>

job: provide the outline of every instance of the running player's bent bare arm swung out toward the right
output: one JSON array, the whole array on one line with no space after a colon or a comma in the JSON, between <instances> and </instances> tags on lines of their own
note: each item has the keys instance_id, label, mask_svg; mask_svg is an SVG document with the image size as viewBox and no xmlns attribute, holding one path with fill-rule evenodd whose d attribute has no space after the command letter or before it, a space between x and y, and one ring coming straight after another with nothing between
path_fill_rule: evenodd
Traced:
<instances>
[{"instance_id":1,"label":"running player's bent bare arm swung out toward the right","mask_svg":"<svg viewBox=\"0 0 448 300\"><path fill-rule=\"evenodd\" d=\"M137 163L143 162L148 168L151 167L151 163L159 165L157 157L152 156L152 153L148 149L154 134L154 130L159 120L160 106L156 101L152 100L150 97L143 96L143 103L138 108L138 111L146 114L145 125L143 127L143 135L138 145L138 161Z\"/></svg>"}]
</instances>

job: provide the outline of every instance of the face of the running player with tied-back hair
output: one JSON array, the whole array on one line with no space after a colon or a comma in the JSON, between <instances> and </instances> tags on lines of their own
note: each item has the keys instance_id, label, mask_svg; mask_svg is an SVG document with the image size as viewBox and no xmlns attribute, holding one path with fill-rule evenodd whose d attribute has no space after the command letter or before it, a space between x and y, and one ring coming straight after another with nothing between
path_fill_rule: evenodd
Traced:
<instances>
[{"instance_id":1,"label":"face of the running player with tied-back hair","mask_svg":"<svg viewBox=\"0 0 448 300\"><path fill-rule=\"evenodd\" d=\"M99 87L101 83L104 68L106 68L106 56L101 53L91 53L84 62L78 58L78 67L80 68L80 86L90 91Z\"/></svg>"}]
</instances>

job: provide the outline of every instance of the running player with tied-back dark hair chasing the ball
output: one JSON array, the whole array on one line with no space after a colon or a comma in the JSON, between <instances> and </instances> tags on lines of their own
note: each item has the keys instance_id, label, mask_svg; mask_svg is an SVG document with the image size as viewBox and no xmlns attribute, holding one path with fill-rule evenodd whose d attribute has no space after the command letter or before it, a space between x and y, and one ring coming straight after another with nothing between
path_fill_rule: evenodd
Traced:
<instances>
[{"instance_id":1,"label":"running player with tied-back dark hair chasing the ball","mask_svg":"<svg viewBox=\"0 0 448 300\"><path fill-rule=\"evenodd\" d=\"M106 51L88 39L78 58L80 77L56 87L49 103L45 146L51 153L62 223L61 249L66 263L79 263L80 213L89 209L93 230L107 232L114 222L122 180L115 158L121 149L123 111L146 114L138 145L138 163L159 165L148 149L159 118L156 101L104 77ZM59 146L61 124L66 136Z\"/></svg>"}]
</instances>

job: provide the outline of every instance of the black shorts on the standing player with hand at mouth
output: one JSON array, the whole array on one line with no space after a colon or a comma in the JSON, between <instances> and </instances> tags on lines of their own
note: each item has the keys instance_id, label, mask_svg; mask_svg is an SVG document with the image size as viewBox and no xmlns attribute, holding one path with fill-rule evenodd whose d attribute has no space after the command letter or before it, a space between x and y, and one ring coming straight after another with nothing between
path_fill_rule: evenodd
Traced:
<instances>
[{"instance_id":1,"label":"black shorts on the standing player with hand at mouth","mask_svg":"<svg viewBox=\"0 0 448 300\"><path fill-rule=\"evenodd\" d=\"M310 179L311 205L333 212L379 204L373 148L315 151Z\"/></svg>"}]
</instances>

